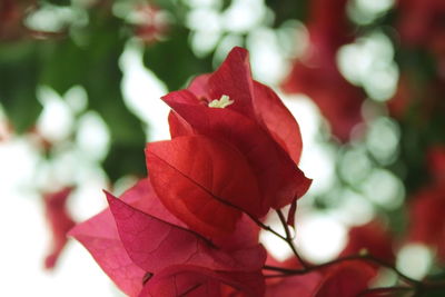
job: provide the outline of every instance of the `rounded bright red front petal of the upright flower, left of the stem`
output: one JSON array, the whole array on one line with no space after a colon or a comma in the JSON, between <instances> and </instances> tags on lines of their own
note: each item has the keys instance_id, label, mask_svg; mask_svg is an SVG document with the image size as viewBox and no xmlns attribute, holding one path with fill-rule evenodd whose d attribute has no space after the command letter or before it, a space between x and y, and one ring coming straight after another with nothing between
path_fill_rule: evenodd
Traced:
<instances>
[{"instance_id":1,"label":"rounded bright red front petal of the upright flower, left of the stem","mask_svg":"<svg viewBox=\"0 0 445 297\"><path fill-rule=\"evenodd\" d=\"M235 230L239 208L258 215L255 177L243 155L227 143L177 137L148 145L146 155L161 201L194 230L208 237L227 235Z\"/></svg>"}]
</instances>

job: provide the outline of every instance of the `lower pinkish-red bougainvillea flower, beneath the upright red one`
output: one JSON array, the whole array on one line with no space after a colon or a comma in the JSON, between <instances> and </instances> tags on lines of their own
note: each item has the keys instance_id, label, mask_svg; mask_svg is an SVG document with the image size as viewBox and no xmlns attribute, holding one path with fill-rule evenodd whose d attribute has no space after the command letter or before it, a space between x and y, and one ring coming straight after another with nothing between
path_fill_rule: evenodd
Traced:
<instances>
[{"instance_id":1,"label":"lower pinkish-red bougainvillea flower, beneath the upright red one","mask_svg":"<svg viewBox=\"0 0 445 297\"><path fill-rule=\"evenodd\" d=\"M71 235L130 296L220 296L233 290L260 296L266 253L258 228L241 218L237 231L210 242L162 207L145 179L121 199L107 194L109 209ZM206 293L206 294L205 294Z\"/></svg>"}]
</instances>

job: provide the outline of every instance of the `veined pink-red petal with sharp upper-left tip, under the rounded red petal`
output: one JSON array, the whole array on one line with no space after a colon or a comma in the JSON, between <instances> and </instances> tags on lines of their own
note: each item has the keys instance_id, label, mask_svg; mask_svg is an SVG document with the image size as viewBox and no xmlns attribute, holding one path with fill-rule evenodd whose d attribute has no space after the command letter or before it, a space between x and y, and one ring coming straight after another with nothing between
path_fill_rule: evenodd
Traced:
<instances>
[{"instance_id":1,"label":"veined pink-red petal with sharp upper-left tip, under the rounded red petal","mask_svg":"<svg viewBox=\"0 0 445 297\"><path fill-rule=\"evenodd\" d=\"M216 270L255 270L263 265L255 263L250 266L251 259L214 249L197 234L145 214L110 194L107 194L107 199L127 254L145 271L156 274L178 264ZM261 254L263 250L253 253Z\"/></svg>"}]
</instances>

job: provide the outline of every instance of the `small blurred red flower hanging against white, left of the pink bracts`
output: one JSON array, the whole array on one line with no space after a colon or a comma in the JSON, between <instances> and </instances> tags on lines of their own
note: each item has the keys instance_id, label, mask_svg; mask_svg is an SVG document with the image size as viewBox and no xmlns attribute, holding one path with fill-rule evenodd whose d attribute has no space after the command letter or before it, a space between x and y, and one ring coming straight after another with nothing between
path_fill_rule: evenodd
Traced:
<instances>
[{"instance_id":1,"label":"small blurred red flower hanging against white, left of the pink bracts","mask_svg":"<svg viewBox=\"0 0 445 297\"><path fill-rule=\"evenodd\" d=\"M57 192L43 195L44 211L52 232L51 251L44 259L44 267L52 269L67 244L67 232L76 225L67 211L67 199L72 187L66 187Z\"/></svg>"}]
</instances>

